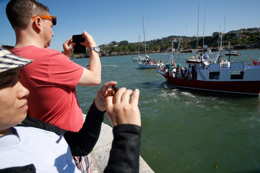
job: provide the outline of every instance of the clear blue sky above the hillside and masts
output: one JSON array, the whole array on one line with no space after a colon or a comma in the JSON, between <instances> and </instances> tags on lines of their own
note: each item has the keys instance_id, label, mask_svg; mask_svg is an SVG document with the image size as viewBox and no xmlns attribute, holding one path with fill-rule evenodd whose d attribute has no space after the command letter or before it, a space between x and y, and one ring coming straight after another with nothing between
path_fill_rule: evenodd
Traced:
<instances>
[{"instance_id":1,"label":"clear blue sky above the hillside and masts","mask_svg":"<svg viewBox=\"0 0 260 173\"><path fill-rule=\"evenodd\" d=\"M0 44L15 45L15 33L6 17L5 7L9 0L0 0ZM83 31L93 36L97 45L111 41L137 42L145 18L146 40L171 35L197 36L199 2L199 36L203 36L205 2L144 0L144 1L86 1L86 0L39 0L57 16L53 27L54 37L49 48L62 51L63 42ZM260 27L260 0L207 0L205 36L213 32L225 32L241 28ZM142 36L143 41L143 36Z\"/></svg>"}]
</instances>

